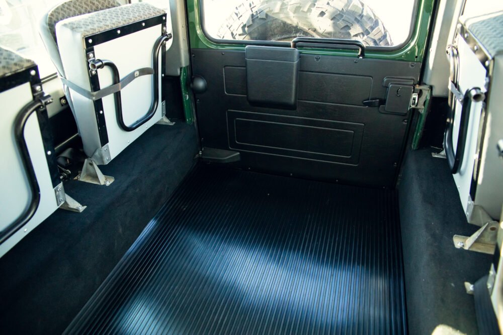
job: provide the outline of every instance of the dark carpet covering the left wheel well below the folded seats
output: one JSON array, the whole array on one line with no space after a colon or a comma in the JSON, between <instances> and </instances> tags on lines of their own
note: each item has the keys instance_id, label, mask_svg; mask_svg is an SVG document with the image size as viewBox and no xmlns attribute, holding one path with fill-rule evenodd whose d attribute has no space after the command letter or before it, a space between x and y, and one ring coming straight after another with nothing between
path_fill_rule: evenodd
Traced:
<instances>
[{"instance_id":1,"label":"dark carpet covering the left wheel well below the folded seats","mask_svg":"<svg viewBox=\"0 0 503 335\"><path fill-rule=\"evenodd\" d=\"M193 126L155 125L103 173L110 186L68 181L88 208L58 209L0 258L0 333L58 334L117 265L193 165Z\"/></svg>"}]
</instances>

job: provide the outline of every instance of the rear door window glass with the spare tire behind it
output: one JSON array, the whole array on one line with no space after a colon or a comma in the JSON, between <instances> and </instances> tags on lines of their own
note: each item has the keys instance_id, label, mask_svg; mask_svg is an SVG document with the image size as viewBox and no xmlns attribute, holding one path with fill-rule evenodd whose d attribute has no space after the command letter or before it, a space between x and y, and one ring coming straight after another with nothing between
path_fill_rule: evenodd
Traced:
<instances>
[{"instance_id":1,"label":"rear door window glass with the spare tire behind it","mask_svg":"<svg viewBox=\"0 0 503 335\"><path fill-rule=\"evenodd\" d=\"M213 39L291 41L359 39L396 46L409 36L414 0L204 0L202 21Z\"/></svg>"}]
</instances>

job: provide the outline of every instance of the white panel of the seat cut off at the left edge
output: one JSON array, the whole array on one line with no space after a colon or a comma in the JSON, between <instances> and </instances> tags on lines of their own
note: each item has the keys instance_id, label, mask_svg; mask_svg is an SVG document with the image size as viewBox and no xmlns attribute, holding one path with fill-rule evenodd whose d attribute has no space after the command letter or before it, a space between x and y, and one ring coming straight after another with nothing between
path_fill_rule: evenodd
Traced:
<instances>
[{"instance_id":1,"label":"white panel of the seat cut off at the left edge","mask_svg":"<svg viewBox=\"0 0 503 335\"><path fill-rule=\"evenodd\" d=\"M0 175L2 176L0 230L16 220L29 202L28 181L14 139L14 120L19 111L31 100L32 93L29 83L0 93L0 103L2 104L2 113L0 113L0 141L2 143L2 160L0 160ZM25 139L40 187L40 205L32 219L0 245L0 257L58 208L35 113L26 123Z\"/></svg>"}]
</instances>

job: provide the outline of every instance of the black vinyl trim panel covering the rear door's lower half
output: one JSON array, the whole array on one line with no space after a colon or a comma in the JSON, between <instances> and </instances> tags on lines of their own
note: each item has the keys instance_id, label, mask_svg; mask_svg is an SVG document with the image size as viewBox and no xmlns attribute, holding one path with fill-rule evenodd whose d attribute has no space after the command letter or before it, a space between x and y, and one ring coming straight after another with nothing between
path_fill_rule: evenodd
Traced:
<instances>
[{"instance_id":1,"label":"black vinyl trim panel covering the rear door's lower half","mask_svg":"<svg viewBox=\"0 0 503 335\"><path fill-rule=\"evenodd\" d=\"M193 49L192 54L193 74L202 76L208 84L204 93L196 94L203 147L237 149L241 160L231 164L239 168L341 183L394 186L410 112L404 111L404 115L383 114L378 107L363 105L363 100L384 101L387 87L383 86L383 82L386 77L417 81L420 63L301 54L297 108L289 110L275 108L273 105L249 104L243 51ZM350 146L347 137L340 136L334 140L333 136L327 135L336 132L299 131L306 128L299 127L301 125L298 123L285 124L281 130L279 127L274 130L264 127L263 131L257 130L259 127L256 123L256 143L268 143L264 148L282 148L287 143L290 149L295 142L325 143L325 148L315 150L323 156L304 153L297 155L292 152L284 154L267 148L247 151L243 147L232 149L232 138L250 136L231 133L235 131L235 127L232 129L228 126L228 115L232 110L255 114L254 120L263 121L263 124L269 122L271 115L274 115L299 118L291 120L300 120L304 122L304 126L323 121L362 125L360 139L355 135L353 140L353 144L359 141L360 145L358 148L351 146L351 157L359 158L350 162L326 159L327 153L334 156L347 154ZM249 131L250 127L248 125L241 129ZM345 128L339 130L342 132ZM271 138L267 139L272 134L275 134L278 143L270 143ZM265 139L261 139L262 137ZM339 145L341 148L336 149Z\"/></svg>"}]
</instances>

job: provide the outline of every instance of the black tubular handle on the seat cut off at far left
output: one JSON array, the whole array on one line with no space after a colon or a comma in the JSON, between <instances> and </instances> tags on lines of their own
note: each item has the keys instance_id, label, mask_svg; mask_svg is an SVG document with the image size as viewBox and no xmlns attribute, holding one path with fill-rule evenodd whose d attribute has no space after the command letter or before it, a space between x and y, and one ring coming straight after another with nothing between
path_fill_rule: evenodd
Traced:
<instances>
[{"instance_id":1,"label":"black tubular handle on the seat cut off at far left","mask_svg":"<svg viewBox=\"0 0 503 335\"><path fill-rule=\"evenodd\" d=\"M14 121L14 138L16 140L21 162L26 171L28 179L28 187L30 188L30 203L18 218L0 232L0 244L4 243L8 238L19 231L33 217L40 204L40 187L38 185L37 176L30 158L30 152L25 140L25 126L30 116L39 108L45 108L45 105L52 102L50 95L44 95L36 98L21 109Z\"/></svg>"}]
</instances>

